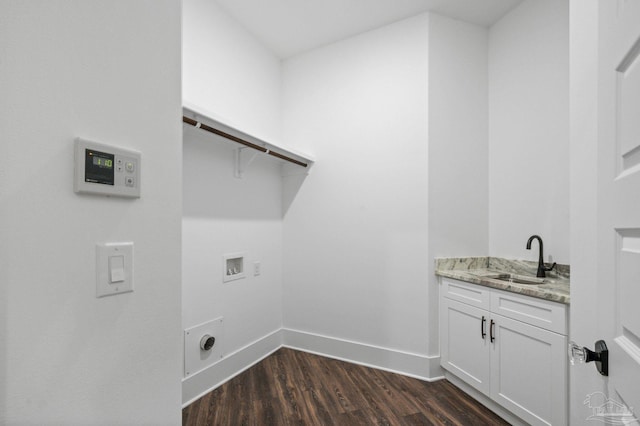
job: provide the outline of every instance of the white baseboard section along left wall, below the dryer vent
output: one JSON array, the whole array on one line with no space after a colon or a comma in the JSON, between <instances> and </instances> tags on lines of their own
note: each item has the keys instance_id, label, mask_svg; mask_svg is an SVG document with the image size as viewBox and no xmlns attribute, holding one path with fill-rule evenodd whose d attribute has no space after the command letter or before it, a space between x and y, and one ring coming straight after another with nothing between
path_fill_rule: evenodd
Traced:
<instances>
[{"instance_id":1,"label":"white baseboard section along left wall, below the dryer vent","mask_svg":"<svg viewBox=\"0 0 640 426\"><path fill-rule=\"evenodd\" d=\"M182 380L182 408L208 394L282 347L282 329L226 355L204 370ZM213 384L213 385L212 385Z\"/></svg>"}]
</instances>

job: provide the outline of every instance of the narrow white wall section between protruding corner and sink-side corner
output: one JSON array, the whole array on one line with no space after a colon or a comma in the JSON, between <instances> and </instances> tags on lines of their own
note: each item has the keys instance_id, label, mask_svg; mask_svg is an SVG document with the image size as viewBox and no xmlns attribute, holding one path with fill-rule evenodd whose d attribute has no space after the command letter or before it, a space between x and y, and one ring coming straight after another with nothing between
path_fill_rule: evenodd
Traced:
<instances>
[{"instance_id":1,"label":"narrow white wall section between protruding corner and sink-side corner","mask_svg":"<svg viewBox=\"0 0 640 426\"><path fill-rule=\"evenodd\" d=\"M486 256L488 235L487 29L429 20L429 257ZM438 334L433 262L430 335ZM438 339L430 341L438 353Z\"/></svg>"}]
</instances>

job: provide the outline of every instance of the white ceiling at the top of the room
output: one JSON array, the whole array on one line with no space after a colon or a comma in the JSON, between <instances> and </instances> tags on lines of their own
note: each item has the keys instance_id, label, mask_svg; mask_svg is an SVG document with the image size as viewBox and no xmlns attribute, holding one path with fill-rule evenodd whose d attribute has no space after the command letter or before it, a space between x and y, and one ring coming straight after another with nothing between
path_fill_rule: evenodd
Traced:
<instances>
[{"instance_id":1,"label":"white ceiling at the top of the room","mask_svg":"<svg viewBox=\"0 0 640 426\"><path fill-rule=\"evenodd\" d=\"M490 26L523 0L216 0L281 58L425 11Z\"/></svg>"}]
</instances>

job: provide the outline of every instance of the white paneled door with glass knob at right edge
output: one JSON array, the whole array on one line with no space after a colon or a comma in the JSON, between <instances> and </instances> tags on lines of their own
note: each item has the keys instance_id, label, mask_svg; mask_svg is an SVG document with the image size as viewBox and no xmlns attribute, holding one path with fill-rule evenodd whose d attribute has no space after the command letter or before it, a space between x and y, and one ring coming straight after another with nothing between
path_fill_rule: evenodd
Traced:
<instances>
[{"instance_id":1,"label":"white paneled door with glass knob at right edge","mask_svg":"<svg viewBox=\"0 0 640 426\"><path fill-rule=\"evenodd\" d=\"M609 347L602 411L625 424L640 416L640 0L599 7L599 330Z\"/></svg>"}]
</instances>

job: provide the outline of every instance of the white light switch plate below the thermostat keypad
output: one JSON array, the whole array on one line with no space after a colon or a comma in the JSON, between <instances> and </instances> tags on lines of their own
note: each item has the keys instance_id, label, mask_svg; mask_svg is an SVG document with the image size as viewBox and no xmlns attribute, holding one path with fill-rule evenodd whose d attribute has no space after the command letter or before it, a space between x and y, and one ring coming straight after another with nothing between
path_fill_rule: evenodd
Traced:
<instances>
[{"instance_id":1,"label":"white light switch plate below the thermostat keypad","mask_svg":"<svg viewBox=\"0 0 640 426\"><path fill-rule=\"evenodd\" d=\"M96 297L133 291L133 243L96 245Z\"/></svg>"}]
</instances>

